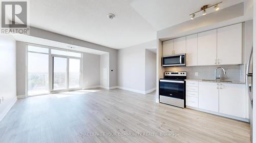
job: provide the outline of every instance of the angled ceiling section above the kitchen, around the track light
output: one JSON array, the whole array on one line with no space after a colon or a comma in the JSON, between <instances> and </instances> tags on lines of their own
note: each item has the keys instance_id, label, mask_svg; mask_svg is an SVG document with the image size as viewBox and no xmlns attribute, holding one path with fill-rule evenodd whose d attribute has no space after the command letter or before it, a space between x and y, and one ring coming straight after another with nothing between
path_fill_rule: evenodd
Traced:
<instances>
[{"instance_id":1,"label":"angled ceiling section above the kitchen, around the track light","mask_svg":"<svg viewBox=\"0 0 256 143\"><path fill-rule=\"evenodd\" d=\"M137 0L131 5L155 30L159 31L190 20L189 14L200 10L204 5L211 6L219 2L223 2L220 4L220 8L223 9L242 3L244 0ZM207 11L214 12L214 8L209 8ZM198 15L201 16L202 13L196 16Z\"/></svg>"}]
</instances>

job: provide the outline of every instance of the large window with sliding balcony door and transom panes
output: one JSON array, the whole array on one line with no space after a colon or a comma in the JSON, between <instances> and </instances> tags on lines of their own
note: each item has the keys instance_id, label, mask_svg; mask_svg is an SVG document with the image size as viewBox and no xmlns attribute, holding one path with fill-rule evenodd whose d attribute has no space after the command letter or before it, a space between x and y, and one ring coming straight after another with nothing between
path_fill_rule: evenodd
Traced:
<instances>
[{"instance_id":1,"label":"large window with sliding balcony door and transom panes","mask_svg":"<svg viewBox=\"0 0 256 143\"><path fill-rule=\"evenodd\" d=\"M81 57L79 52L28 45L28 96L79 89Z\"/></svg>"}]
</instances>

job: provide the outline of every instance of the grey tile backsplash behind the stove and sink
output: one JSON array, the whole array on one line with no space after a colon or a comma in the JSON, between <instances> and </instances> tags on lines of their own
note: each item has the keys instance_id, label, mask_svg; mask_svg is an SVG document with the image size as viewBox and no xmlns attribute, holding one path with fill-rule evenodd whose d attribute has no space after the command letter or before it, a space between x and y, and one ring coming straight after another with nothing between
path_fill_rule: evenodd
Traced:
<instances>
[{"instance_id":1,"label":"grey tile backsplash behind the stove and sink","mask_svg":"<svg viewBox=\"0 0 256 143\"><path fill-rule=\"evenodd\" d=\"M191 66L191 67L165 67L165 71L186 71L187 78L190 79L214 79L215 68L223 67L226 74L223 74L222 69L218 69L217 77L224 80L245 80L245 65L214 65L214 66ZM198 76L195 73L198 72Z\"/></svg>"}]
</instances>

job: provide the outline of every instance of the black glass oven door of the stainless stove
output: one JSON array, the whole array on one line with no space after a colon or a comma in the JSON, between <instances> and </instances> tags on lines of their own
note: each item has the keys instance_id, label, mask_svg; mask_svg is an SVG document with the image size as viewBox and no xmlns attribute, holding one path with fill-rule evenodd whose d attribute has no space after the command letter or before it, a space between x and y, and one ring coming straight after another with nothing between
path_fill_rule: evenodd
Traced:
<instances>
[{"instance_id":1,"label":"black glass oven door of the stainless stove","mask_svg":"<svg viewBox=\"0 0 256 143\"><path fill-rule=\"evenodd\" d=\"M159 82L159 95L172 98L185 98L185 83L179 80L164 80Z\"/></svg>"}]
</instances>

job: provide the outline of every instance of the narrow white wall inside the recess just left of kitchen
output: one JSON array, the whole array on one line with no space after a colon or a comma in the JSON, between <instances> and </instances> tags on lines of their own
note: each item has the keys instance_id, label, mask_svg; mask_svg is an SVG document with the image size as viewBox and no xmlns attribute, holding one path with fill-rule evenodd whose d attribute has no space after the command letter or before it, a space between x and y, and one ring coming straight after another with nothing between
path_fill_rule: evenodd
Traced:
<instances>
[{"instance_id":1,"label":"narrow white wall inside the recess just left of kitchen","mask_svg":"<svg viewBox=\"0 0 256 143\"><path fill-rule=\"evenodd\" d=\"M157 57L156 53L145 50L145 91L153 91L156 89L157 78Z\"/></svg>"}]
</instances>

